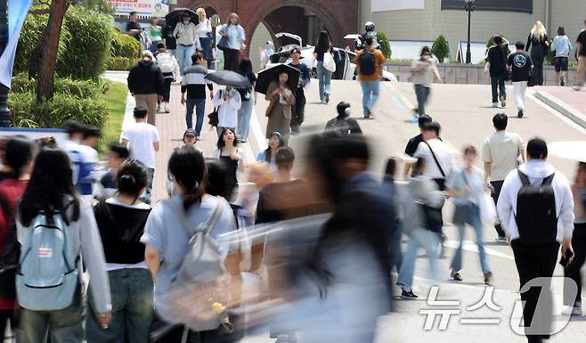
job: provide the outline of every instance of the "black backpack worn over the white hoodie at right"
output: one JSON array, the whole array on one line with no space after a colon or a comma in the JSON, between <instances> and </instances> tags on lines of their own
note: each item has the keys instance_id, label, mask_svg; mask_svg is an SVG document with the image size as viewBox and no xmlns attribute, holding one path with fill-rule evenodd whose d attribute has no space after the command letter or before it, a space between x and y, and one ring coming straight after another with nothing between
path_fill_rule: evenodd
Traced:
<instances>
[{"instance_id":1,"label":"black backpack worn over the white hoodie at right","mask_svg":"<svg viewBox=\"0 0 586 343\"><path fill-rule=\"evenodd\" d=\"M552 174L540 185L529 184L529 178L518 171L521 189L517 193L517 216L515 221L519 239L527 245L550 244L558 235L556 196L551 186Z\"/></svg>"}]
</instances>

